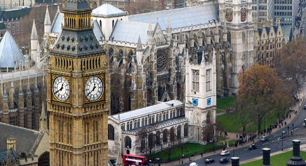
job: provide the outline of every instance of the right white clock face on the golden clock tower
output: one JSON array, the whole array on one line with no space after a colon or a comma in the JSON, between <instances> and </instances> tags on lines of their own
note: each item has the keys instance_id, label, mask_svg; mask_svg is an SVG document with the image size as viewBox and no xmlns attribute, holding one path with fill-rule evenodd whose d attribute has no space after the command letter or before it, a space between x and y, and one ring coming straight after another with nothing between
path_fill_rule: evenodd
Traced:
<instances>
[{"instance_id":1,"label":"right white clock face on the golden clock tower","mask_svg":"<svg viewBox=\"0 0 306 166\"><path fill-rule=\"evenodd\" d=\"M91 77L85 84L85 96L90 101L98 100L103 93L103 83L99 77Z\"/></svg>"}]
</instances>

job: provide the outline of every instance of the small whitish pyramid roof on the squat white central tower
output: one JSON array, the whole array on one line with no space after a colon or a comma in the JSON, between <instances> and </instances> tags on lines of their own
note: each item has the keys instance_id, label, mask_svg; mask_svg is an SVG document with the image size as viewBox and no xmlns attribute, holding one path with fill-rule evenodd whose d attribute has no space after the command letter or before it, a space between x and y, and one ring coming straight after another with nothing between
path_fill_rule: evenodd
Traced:
<instances>
[{"instance_id":1,"label":"small whitish pyramid roof on the squat white central tower","mask_svg":"<svg viewBox=\"0 0 306 166\"><path fill-rule=\"evenodd\" d=\"M124 12L109 3L104 3L101 6L97 7L92 11L92 15L95 17L118 17L118 16L126 16L128 12Z\"/></svg>"}]
</instances>

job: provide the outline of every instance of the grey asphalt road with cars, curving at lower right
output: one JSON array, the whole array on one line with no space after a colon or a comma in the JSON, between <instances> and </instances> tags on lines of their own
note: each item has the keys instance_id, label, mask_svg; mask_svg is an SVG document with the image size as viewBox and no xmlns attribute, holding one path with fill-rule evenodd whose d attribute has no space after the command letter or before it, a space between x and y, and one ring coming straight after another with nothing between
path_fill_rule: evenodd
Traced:
<instances>
[{"instance_id":1,"label":"grey asphalt road with cars, curving at lower right","mask_svg":"<svg viewBox=\"0 0 306 166\"><path fill-rule=\"evenodd\" d=\"M294 121L292 121L290 124L288 124L287 126L289 126L289 132L291 129L293 129L293 126L292 124L294 125L294 128L296 128L296 126L303 126L304 125L304 119L306 119L306 110L303 109L303 105L305 105L306 102L304 101L304 103L302 104L302 108L298 114L298 116L294 119ZM293 130L293 136L296 136L297 134L301 134L302 132L305 133L305 130L304 128L299 128L299 129L295 129ZM248 159L252 159L252 158L255 158L255 157L259 157L259 156L262 156L262 148L264 147L268 147L271 149L271 153L274 153L274 152L277 152L277 151L280 151L281 150L281 134L282 134L282 131L285 131L285 136L284 136L284 139L283 139L283 149L286 149L286 148L290 148L292 147L292 140L300 140L301 141L301 145L302 144L306 144L306 137L287 137L287 133L288 133L288 129L287 127L283 128L283 130L279 130L273 134L271 134L270 136L268 136L268 141L266 142L255 142L255 145L258 145L258 149L255 149L255 150L249 150L248 147L242 147L242 148L238 148L238 149L235 149L235 157L239 157L240 158L240 161L245 161L245 160L248 160ZM238 146L239 147L239 146ZM230 150L230 148L228 148L227 150ZM222 157L227 157L229 158L229 163L226 163L226 164L220 164L219 163L219 160L220 158ZM211 164L207 164L207 166L226 166L226 165L230 165L231 164L231 161L230 161L230 158L233 157L233 149L230 150L230 155L228 156L220 156L220 154L215 154L215 155L212 155L212 156L208 156L208 157L205 157L203 159L200 159L198 161L196 161L196 163L199 165L199 166L205 166L205 159L206 158L213 158L215 159L215 163L211 163ZM289 159L288 159L289 160ZM181 166L189 166L189 164L184 164L184 165L181 165Z\"/></svg>"}]
</instances>

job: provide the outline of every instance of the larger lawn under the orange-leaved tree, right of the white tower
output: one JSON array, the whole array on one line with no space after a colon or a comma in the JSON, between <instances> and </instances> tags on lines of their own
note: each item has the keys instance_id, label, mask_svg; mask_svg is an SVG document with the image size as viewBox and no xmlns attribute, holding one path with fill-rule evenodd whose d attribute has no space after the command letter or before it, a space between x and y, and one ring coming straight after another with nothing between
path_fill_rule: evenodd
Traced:
<instances>
[{"instance_id":1,"label":"larger lawn under the orange-leaved tree, right of the white tower","mask_svg":"<svg viewBox=\"0 0 306 166\"><path fill-rule=\"evenodd\" d=\"M223 127L225 128L227 132L238 133L238 132L241 132L243 129L242 125L239 124L239 121L238 121L239 118L236 112L219 115L217 116L217 119L218 121L221 122L221 124L223 125ZM277 115L275 114L267 115L265 118L266 127L270 125L274 125L277 122L277 120L278 120ZM264 129L264 120L262 120L262 123L261 123L261 130L263 129ZM252 123L252 122L246 127L247 134L249 134L249 132L252 132L252 134L254 134L256 130L257 130L257 125L255 125L255 123Z\"/></svg>"}]
</instances>

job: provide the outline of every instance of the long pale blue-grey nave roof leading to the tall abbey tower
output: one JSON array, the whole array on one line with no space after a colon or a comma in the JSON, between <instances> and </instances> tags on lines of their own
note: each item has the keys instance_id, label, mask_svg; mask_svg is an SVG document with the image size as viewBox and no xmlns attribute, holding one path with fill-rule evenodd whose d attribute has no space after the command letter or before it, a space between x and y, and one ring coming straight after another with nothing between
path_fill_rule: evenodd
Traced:
<instances>
[{"instance_id":1,"label":"long pale blue-grey nave roof leading to the tall abbey tower","mask_svg":"<svg viewBox=\"0 0 306 166\"><path fill-rule=\"evenodd\" d=\"M219 3L130 15L128 20L149 23L149 18L151 18L152 23L156 23L158 19L158 23L164 31L167 28L168 16L172 29L209 23L209 20L219 17Z\"/></svg>"}]
</instances>

